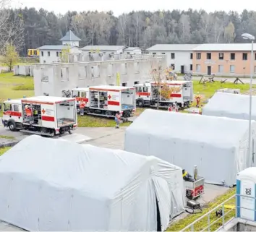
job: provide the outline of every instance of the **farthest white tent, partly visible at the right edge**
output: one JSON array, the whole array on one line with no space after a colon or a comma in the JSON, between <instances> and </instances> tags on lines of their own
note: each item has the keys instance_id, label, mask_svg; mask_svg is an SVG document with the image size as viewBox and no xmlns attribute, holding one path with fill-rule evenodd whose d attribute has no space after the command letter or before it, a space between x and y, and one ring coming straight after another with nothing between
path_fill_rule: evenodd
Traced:
<instances>
[{"instance_id":1,"label":"farthest white tent, partly visible at the right edge","mask_svg":"<svg viewBox=\"0 0 256 232\"><path fill-rule=\"evenodd\" d=\"M252 119L256 120L256 97L252 96ZM202 108L202 115L249 119L249 95L215 93Z\"/></svg>"}]
</instances>

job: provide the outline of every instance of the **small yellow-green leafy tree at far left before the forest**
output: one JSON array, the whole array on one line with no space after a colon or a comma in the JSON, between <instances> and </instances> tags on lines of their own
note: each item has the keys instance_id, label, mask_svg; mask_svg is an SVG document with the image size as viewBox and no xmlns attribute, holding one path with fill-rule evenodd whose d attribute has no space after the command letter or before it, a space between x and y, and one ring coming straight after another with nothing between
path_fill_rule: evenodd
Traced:
<instances>
[{"instance_id":1,"label":"small yellow-green leafy tree at far left before the forest","mask_svg":"<svg viewBox=\"0 0 256 232\"><path fill-rule=\"evenodd\" d=\"M13 66L19 61L19 54L12 43L7 43L4 51L4 65L8 66L8 71L12 72Z\"/></svg>"}]
</instances>

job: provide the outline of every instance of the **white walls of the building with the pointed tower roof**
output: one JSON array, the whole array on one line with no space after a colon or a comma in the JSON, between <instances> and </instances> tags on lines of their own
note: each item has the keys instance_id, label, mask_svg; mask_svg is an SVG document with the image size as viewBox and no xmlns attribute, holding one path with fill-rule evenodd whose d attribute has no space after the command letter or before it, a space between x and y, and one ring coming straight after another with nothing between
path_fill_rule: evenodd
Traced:
<instances>
[{"instance_id":1,"label":"white walls of the building with the pointed tower roof","mask_svg":"<svg viewBox=\"0 0 256 232\"><path fill-rule=\"evenodd\" d=\"M43 52L43 56L42 56L42 52ZM50 54L50 56L48 56L48 53ZM51 64L51 63L55 63L55 62L61 62L61 58L60 58L60 53L61 50L40 50L39 53L39 60L40 60L40 64ZM80 53L80 48L70 48L70 53Z\"/></svg>"}]
</instances>

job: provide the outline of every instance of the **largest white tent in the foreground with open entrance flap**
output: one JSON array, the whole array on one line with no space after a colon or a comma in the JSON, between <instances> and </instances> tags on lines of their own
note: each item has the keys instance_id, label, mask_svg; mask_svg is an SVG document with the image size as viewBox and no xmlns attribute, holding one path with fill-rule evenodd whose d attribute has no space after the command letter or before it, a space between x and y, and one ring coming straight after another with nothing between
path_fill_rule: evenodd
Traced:
<instances>
[{"instance_id":1,"label":"largest white tent in the foreground with open entrance flap","mask_svg":"<svg viewBox=\"0 0 256 232\"><path fill-rule=\"evenodd\" d=\"M184 210L181 168L36 135L1 156L0 186L0 219L27 231L165 230Z\"/></svg>"}]
</instances>

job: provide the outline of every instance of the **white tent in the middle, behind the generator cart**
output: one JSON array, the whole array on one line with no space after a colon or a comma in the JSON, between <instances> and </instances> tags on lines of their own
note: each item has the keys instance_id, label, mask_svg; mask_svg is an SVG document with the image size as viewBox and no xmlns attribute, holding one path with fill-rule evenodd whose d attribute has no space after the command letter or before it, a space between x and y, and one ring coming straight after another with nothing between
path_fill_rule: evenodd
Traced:
<instances>
[{"instance_id":1,"label":"white tent in the middle, behind the generator cart","mask_svg":"<svg viewBox=\"0 0 256 232\"><path fill-rule=\"evenodd\" d=\"M245 120L146 110L126 129L124 150L155 155L191 174L197 166L206 182L231 186L252 163L248 127Z\"/></svg>"}]
</instances>

